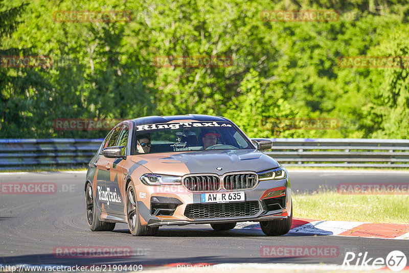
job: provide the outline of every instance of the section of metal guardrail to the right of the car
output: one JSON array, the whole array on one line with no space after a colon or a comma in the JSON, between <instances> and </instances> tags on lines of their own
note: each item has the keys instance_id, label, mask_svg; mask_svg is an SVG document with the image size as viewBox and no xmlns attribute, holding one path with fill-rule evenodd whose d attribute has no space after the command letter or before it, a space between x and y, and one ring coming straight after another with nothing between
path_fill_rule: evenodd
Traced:
<instances>
[{"instance_id":1,"label":"section of metal guardrail to the right of the car","mask_svg":"<svg viewBox=\"0 0 409 273\"><path fill-rule=\"evenodd\" d=\"M409 167L409 140L270 139L266 154L284 166Z\"/></svg>"}]
</instances>

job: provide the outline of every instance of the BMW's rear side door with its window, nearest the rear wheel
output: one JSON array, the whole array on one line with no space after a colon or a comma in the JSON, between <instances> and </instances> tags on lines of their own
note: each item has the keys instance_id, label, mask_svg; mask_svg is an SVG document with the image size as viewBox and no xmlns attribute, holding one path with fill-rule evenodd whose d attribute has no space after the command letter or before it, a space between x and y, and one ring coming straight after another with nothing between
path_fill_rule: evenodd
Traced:
<instances>
[{"instance_id":1,"label":"BMW's rear side door with its window, nearest the rear wheel","mask_svg":"<svg viewBox=\"0 0 409 273\"><path fill-rule=\"evenodd\" d=\"M123 125L115 127L112 132L110 133L109 140L104 144L103 148L113 147L116 146L119 138L119 134L123 129ZM117 158L109 158L101 155L97 162L97 198L98 203L101 204L101 211L102 212L109 212L109 206L112 202L117 202L118 198L115 196L115 192L117 191L120 196L118 189L115 191L115 188L107 187L107 184L110 183L107 181L111 180L112 174L114 174L113 180L115 180L115 168L113 168L114 162ZM113 170L113 171L112 171ZM118 188L118 185L117 187ZM122 200L121 200L122 201Z\"/></svg>"}]
</instances>

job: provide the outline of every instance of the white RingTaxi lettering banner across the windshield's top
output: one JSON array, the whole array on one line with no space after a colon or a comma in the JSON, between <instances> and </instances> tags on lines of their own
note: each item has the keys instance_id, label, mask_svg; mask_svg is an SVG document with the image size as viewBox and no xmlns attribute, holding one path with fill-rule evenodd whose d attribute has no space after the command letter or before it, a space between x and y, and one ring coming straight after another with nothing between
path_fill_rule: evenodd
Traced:
<instances>
[{"instance_id":1,"label":"white RingTaxi lettering banner across the windshield's top","mask_svg":"<svg viewBox=\"0 0 409 273\"><path fill-rule=\"evenodd\" d=\"M167 130L167 129L183 129L183 128L192 128L192 127L232 127L228 122L176 122L176 123L156 123L156 124L146 124L146 125L137 125L136 131L158 131L158 130Z\"/></svg>"}]
</instances>

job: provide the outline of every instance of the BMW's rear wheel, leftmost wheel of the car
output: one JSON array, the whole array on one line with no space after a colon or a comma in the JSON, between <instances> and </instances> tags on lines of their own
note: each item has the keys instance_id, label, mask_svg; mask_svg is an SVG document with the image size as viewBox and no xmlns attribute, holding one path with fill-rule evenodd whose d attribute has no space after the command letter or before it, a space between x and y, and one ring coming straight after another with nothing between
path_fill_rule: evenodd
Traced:
<instances>
[{"instance_id":1,"label":"BMW's rear wheel, leftmost wheel of the car","mask_svg":"<svg viewBox=\"0 0 409 273\"><path fill-rule=\"evenodd\" d=\"M90 183L86 185L85 211L89 229L92 231L113 231L115 223L104 222L98 219L98 208L94 202L94 192Z\"/></svg>"}]
</instances>

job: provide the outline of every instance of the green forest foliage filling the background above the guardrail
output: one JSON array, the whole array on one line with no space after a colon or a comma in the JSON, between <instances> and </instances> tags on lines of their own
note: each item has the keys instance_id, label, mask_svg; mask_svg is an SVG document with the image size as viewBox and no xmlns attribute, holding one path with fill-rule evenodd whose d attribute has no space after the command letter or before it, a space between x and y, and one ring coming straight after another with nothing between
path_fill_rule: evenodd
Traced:
<instances>
[{"instance_id":1,"label":"green forest foliage filling the background above the guardrail","mask_svg":"<svg viewBox=\"0 0 409 273\"><path fill-rule=\"evenodd\" d=\"M262 21L263 10L329 10L332 22ZM63 22L58 11L131 11L131 21ZM98 138L55 119L203 113L249 137L407 138L408 66L344 68L342 56L409 55L406 1L0 2L0 55L52 66L0 67L0 138ZM213 56L226 65L167 67ZM199 56L199 57L198 57ZM338 119L339 128L277 128L283 119Z\"/></svg>"}]
</instances>

